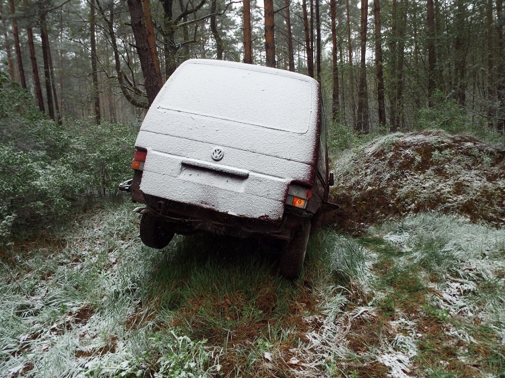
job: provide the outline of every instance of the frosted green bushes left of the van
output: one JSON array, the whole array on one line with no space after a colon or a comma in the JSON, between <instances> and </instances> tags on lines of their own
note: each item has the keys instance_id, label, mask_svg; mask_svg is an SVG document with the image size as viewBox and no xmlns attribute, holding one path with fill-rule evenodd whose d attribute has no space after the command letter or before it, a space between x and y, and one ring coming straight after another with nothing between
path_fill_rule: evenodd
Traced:
<instances>
[{"instance_id":1,"label":"frosted green bushes left of the van","mask_svg":"<svg viewBox=\"0 0 505 378\"><path fill-rule=\"evenodd\" d=\"M36 109L28 92L0 87L0 245L90 198L115 195L131 177L135 136L120 124L60 126Z\"/></svg>"}]
</instances>

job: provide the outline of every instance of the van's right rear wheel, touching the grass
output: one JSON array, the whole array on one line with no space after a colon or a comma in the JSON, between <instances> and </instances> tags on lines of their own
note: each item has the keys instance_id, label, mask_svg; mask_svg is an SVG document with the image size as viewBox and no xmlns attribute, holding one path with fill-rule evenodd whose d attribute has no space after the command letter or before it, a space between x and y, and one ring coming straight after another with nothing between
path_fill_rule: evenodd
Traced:
<instances>
[{"instance_id":1,"label":"van's right rear wheel, touching the grass","mask_svg":"<svg viewBox=\"0 0 505 378\"><path fill-rule=\"evenodd\" d=\"M291 240L281 250L279 267L281 276L288 280L295 280L300 276L310 234L311 222L306 219L302 223L301 229L295 232Z\"/></svg>"}]
</instances>

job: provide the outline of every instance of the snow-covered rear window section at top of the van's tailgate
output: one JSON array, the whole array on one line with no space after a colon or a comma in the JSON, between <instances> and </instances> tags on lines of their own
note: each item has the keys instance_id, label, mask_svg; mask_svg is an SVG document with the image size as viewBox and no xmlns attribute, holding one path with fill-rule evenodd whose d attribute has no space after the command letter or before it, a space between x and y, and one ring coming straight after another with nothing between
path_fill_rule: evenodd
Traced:
<instances>
[{"instance_id":1,"label":"snow-covered rear window section at top of the van's tailgate","mask_svg":"<svg viewBox=\"0 0 505 378\"><path fill-rule=\"evenodd\" d=\"M154 106L304 134L316 123L319 84L309 76L235 62L184 62Z\"/></svg>"}]
</instances>

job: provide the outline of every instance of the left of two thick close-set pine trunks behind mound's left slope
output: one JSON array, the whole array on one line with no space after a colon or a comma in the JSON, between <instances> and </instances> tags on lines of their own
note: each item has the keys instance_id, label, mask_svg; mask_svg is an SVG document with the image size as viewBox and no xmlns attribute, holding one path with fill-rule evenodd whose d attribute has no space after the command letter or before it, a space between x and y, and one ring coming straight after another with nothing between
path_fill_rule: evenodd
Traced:
<instances>
[{"instance_id":1,"label":"left of two thick close-set pine trunks behind mound's left slope","mask_svg":"<svg viewBox=\"0 0 505 378\"><path fill-rule=\"evenodd\" d=\"M368 124L368 90L367 90L367 21L368 0L361 2L361 62L360 62L360 86L358 93L358 131L363 134L370 132Z\"/></svg>"}]
</instances>

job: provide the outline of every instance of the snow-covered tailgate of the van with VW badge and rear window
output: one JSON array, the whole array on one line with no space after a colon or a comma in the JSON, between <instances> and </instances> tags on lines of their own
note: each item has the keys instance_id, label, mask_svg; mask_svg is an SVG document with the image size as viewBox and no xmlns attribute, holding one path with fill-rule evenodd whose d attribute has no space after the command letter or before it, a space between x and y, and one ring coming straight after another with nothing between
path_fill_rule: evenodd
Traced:
<instances>
[{"instance_id":1,"label":"snow-covered tailgate of the van with VW badge and rear window","mask_svg":"<svg viewBox=\"0 0 505 378\"><path fill-rule=\"evenodd\" d=\"M318 93L304 75L185 62L142 123L141 190L242 217L281 218L289 184L315 178Z\"/></svg>"}]
</instances>

